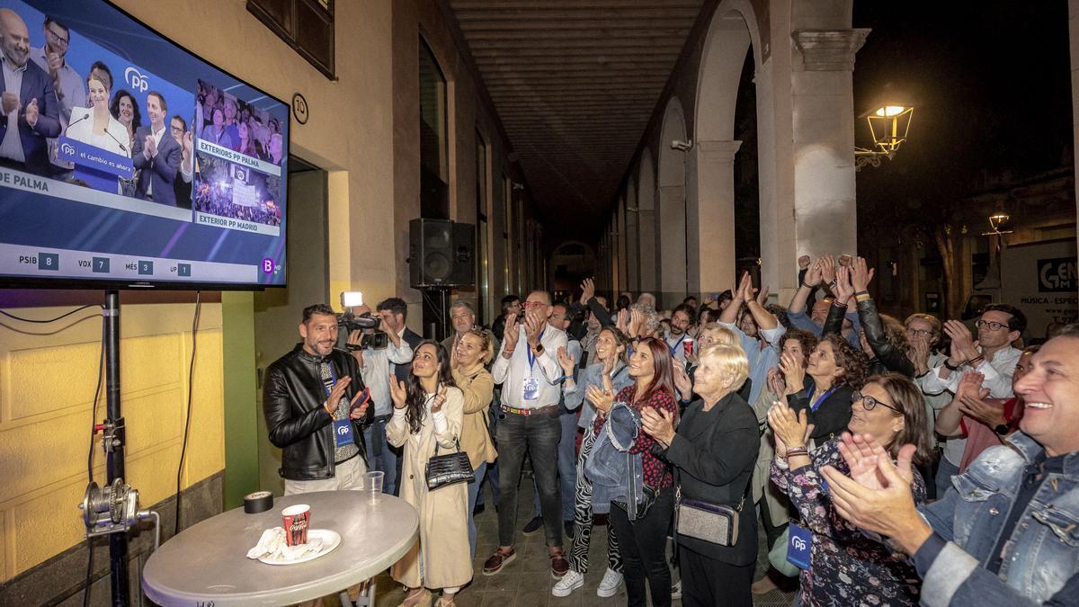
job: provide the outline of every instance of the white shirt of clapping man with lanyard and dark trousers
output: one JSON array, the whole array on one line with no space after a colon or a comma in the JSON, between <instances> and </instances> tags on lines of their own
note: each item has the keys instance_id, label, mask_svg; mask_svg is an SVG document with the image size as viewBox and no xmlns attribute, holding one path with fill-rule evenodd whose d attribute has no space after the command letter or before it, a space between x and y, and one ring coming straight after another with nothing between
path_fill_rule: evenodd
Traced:
<instances>
[{"instance_id":1,"label":"white shirt of clapping man with lanyard and dark trousers","mask_svg":"<svg viewBox=\"0 0 1079 607\"><path fill-rule=\"evenodd\" d=\"M565 332L547 325L540 336L540 343L543 352L532 358L532 349L529 348L528 338L524 336L524 327L520 327L517 347L507 360L502 355L506 349L506 342L502 342L498 356L491 366L491 375L494 376L495 383L502 383L502 404L515 409L534 409L557 405L562 397L562 388L558 379L562 377L562 367L558 364L556 352L559 348L566 348L569 338ZM530 364L531 361L531 364ZM536 399L524 400L524 381L536 380Z\"/></svg>"}]
</instances>

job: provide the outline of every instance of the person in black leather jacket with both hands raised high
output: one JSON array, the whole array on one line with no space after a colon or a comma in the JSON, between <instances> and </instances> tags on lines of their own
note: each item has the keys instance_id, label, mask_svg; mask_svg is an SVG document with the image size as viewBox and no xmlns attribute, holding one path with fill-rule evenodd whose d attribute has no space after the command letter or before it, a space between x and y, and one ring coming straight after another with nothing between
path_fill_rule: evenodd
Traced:
<instances>
[{"instance_id":1,"label":"person in black leather jacket with both hands raised high","mask_svg":"<svg viewBox=\"0 0 1079 607\"><path fill-rule=\"evenodd\" d=\"M910 348L906 340L906 329L898 320L877 311L876 304L870 297L869 284L873 280L873 270L866 267L863 257L857 257L849 267L841 267L835 271L835 295L837 302L846 302L855 298L858 306L858 320L861 323L862 351L870 358L869 374L898 373L905 377L914 377L914 363L907 358ZM828 320L824 321L823 334L839 333L843 326L843 314L846 306L832 306Z\"/></svg>"}]
</instances>

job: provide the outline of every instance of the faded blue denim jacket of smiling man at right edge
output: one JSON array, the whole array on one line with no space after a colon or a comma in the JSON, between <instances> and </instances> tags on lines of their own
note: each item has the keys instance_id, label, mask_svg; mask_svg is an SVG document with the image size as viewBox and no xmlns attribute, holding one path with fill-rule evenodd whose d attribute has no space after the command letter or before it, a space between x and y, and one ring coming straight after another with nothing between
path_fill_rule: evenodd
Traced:
<instances>
[{"instance_id":1,"label":"faded blue denim jacket of smiling man at right edge","mask_svg":"<svg viewBox=\"0 0 1079 607\"><path fill-rule=\"evenodd\" d=\"M927 570L919 566L923 605L1042 605L1073 578L1068 592L1076 586L1079 451L1065 457L1063 474L1049 474L1017 520L1005 548L1000 575L985 568L1023 471L1043 450L1022 432L1008 442L1008 446L986 449L964 474L953 476L954 489L943 499L919 508L933 531L948 542ZM1079 604L1079 596L1066 603Z\"/></svg>"}]
</instances>

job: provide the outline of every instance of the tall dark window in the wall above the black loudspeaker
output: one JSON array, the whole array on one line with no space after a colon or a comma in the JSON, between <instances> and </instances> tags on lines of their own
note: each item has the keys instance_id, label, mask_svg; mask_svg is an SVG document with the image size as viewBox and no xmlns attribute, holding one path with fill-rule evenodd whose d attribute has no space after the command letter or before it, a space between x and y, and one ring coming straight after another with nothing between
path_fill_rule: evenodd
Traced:
<instances>
[{"instance_id":1,"label":"tall dark window in the wall above the black loudspeaker","mask_svg":"<svg viewBox=\"0 0 1079 607\"><path fill-rule=\"evenodd\" d=\"M420 215L450 218L450 160L446 76L420 40Z\"/></svg>"}]
</instances>

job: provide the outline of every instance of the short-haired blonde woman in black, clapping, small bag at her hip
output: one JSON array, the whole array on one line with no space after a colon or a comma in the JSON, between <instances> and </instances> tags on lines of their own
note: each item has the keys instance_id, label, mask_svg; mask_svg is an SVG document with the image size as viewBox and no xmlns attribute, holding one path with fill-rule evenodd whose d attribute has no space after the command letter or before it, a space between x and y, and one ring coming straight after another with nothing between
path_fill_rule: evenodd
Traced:
<instances>
[{"instance_id":1,"label":"short-haired blonde woman in black, clapping, small bag at her hip","mask_svg":"<svg viewBox=\"0 0 1079 607\"><path fill-rule=\"evenodd\" d=\"M675 432L672 416L645 408L644 431L664 447L675 469L683 499L738 509L733 545L675 535L682 568L682 605L751 606L756 564L756 515L747 500L761 436L756 416L736 390L749 375L749 361L737 346L710 346L700 352L693 391ZM743 508L746 502L750 508Z\"/></svg>"}]
</instances>

